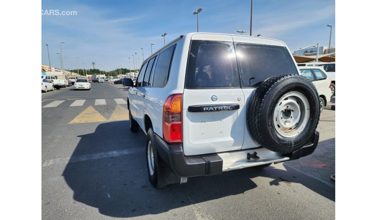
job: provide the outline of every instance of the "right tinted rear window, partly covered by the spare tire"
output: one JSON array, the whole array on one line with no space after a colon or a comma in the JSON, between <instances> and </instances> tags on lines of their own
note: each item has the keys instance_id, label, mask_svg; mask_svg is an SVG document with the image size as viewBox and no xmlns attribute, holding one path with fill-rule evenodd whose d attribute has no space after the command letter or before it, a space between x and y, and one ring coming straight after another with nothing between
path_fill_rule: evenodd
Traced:
<instances>
[{"instance_id":1,"label":"right tinted rear window, partly covered by the spare tire","mask_svg":"<svg viewBox=\"0 0 377 220\"><path fill-rule=\"evenodd\" d=\"M236 44L242 87L258 87L279 74L298 74L290 52L285 47Z\"/></svg>"}]
</instances>

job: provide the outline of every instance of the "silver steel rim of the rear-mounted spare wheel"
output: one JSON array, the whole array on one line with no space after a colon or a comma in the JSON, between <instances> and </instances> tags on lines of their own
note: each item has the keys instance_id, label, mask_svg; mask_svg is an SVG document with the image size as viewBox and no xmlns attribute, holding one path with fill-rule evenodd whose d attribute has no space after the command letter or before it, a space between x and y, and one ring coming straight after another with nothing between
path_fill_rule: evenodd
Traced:
<instances>
[{"instance_id":1,"label":"silver steel rim of the rear-mounted spare wheel","mask_svg":"<svg viewBox=\"0 0 377 220\"><path fill-rule=\"evenodd\" d=\"M274 127L281 136L293 138L299 135L309 121L308 99L299 92L282 96L274 109Z\"/></svg>"}]
</instances>

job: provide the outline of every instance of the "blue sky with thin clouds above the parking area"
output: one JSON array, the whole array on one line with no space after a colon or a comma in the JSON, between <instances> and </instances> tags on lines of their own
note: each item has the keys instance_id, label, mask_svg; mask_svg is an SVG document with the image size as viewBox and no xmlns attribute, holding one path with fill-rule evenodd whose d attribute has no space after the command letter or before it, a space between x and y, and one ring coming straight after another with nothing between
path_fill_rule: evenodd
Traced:
<instances>
[{"instance_id":1,"label":"blue sky with thin clouds above the parking area","mask_svg":"<svg viewBox=\"0 0 377 220\"><path fill-rule=\"evenodd\" d=\"M48 65L45 44L49 44L52 67L60 68L59 42L62 44L65 69L90 68L92 61L96 68L114 70L121 65L129 68L128 58L132 55L142 61L153 52L180 35L196 32L198 8L199 31L234 33L245 30L250 34L251 0L42 0L42 10L58 9L77 11L77 15L42 15L42 64ZM319 42L335 47L335 1L317 0L254 0L253 35L280 39L290 50L310 46ZM85 67L84 67L85 68Z\"/></svg>"}]
</instances>

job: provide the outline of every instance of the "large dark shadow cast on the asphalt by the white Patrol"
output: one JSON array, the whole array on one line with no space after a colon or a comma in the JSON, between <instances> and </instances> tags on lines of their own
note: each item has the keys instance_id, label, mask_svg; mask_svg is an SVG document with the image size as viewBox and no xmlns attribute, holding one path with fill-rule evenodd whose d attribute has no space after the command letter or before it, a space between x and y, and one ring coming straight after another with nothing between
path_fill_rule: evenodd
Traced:
<instances>
[{"instance_id":1,"label":"large dark shadow cast on the asphalt by the white Patrol","mask_svg":"<svg viewBox=\"0 0 377 220\"><path fill-rule=\"evenodd\" d=\"M111 217L136 217L159 214L182 206L243 194L257 188L253 178L271 178L270 185L297 182L335 201L335 189L294 170L245 168L215 176L189 178L187 184L172 184L155 189L146 170L146 135L139 129L134 134L129 121L113 121L98 125L94 133L80 135L63 176L74 192L74 200L98 208ZM104 152L125 152L106 156ZM136 153L135 153L136 149ZM85 155L85 156L83 156ZM94 156L93 156L94 155ZM101 156L102 155L102 156ZM72 160L72 158L84 158ZM85 159L87 158L87 159Z\"/></svg>"}]
</instances>

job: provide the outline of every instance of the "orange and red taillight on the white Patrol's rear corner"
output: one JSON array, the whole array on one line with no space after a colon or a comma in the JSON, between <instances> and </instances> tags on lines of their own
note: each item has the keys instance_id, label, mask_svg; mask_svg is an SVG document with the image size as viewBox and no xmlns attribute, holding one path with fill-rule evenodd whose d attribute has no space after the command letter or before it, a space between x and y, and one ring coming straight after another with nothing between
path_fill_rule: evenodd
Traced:
<instances>
[{"instance_id":1,"label":"orange and red taillight on the white Patrol's rear corner","mask_svg":"<svg viewBox=\"0 0 377 220\"><path fill-rule=\"evenodd\" d=\"M162 133L168 143L182 142L182 94L174 94L166 99Z\"/></svg>"}]
</instances>

